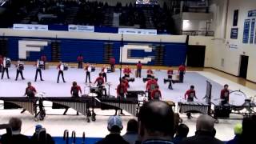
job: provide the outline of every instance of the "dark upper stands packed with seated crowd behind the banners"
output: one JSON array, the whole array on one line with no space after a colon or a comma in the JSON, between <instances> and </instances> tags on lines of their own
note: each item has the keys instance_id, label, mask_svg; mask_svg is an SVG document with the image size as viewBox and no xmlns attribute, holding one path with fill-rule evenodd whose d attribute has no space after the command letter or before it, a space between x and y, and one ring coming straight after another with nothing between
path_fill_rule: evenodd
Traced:
<instances>
[{"instance_id":1,"label":"dark upper stands packed with seated crowd behind the banners","mask_svg":"<svg viewBox=\"0 0 256 144\"><path fill-rule=\"evenodd\" d=\"M152 15L145 14L145 10ZM119 26L131 26L142 29L157 29L159 32L175 34L172 10L166 3L150 7L137 6L135 3L122 6L109 6L107 2L79 1L43 1L14 0L6 3L0 10L0 27L11 27L14 23L46 25L85 25L104 26L106 14L118 13ZM146 26L146 19L153 27ZM4 21L3 21L4 20ZM109 18L109 21L112 19Z\"/></svg>"}]
</instances>

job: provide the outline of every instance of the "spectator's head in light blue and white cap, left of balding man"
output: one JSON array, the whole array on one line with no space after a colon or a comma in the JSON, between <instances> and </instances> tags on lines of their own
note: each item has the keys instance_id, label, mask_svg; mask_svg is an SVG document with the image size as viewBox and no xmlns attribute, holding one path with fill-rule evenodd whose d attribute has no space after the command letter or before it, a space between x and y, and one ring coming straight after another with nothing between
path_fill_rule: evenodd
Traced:
<instances>
[{"instance_id":1,"label":"spectator's head in light blue and white cap, left of balding man","mask_svg":"<svg viewBox=\"0 0 256 144\"><path fill-rule=\"evenodd\" d=\"M120 134L122 130L122 119L118 115L110 116L107 121L107 130L111 134Z\"/></svg>"}]
</instances>

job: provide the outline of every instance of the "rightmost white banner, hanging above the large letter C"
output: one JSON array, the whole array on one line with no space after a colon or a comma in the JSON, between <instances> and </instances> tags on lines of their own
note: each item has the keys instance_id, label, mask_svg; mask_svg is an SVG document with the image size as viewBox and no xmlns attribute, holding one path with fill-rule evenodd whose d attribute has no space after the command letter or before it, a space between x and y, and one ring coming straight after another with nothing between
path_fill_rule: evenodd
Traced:
<instances>
[{"instance_id":1,"label":"rightmost white banner, hanging above the large letter C","mask_svg":"<svg viewBox=\"0 0 256 144\"><path fill-rule=\"evenodd\" d=\"M158 30L119 28L118 34L157 35Z\"/></svg>"}]
</instances>

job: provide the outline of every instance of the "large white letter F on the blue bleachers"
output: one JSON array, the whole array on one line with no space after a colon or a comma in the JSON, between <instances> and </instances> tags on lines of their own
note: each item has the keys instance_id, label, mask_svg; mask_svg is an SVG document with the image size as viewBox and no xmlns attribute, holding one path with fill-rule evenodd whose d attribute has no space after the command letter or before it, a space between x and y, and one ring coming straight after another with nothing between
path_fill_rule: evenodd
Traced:
<instances>
[{"instance_id":1,"label":"large white letter F on the blue bleachers","mask_svg":"<svg viewBox=\"0 0 256 144\"><path fill-rule=\"evenodd\" d=\"M44 41L18 41L18 58L26 59L30 51L40 52L44 46L48 46L48 42Z\"/></svg>"}]
</instances>

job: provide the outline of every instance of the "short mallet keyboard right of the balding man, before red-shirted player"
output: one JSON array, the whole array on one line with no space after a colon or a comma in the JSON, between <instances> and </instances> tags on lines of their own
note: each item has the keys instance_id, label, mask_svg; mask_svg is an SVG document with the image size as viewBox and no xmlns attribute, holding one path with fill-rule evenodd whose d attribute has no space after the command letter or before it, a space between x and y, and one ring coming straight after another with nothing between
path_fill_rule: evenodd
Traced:
<instances>
[{"instance_id":1,"label":"short mallet keyboard right of the balding man, before red-shirted player","mask_svg":"<svg viewBox=\"0 0 256 144\"><path fill-rule=\"evenodd\" d=\"M178 111L180 113L208 113L208 104L206 102L178 102Z\"/></svg>"}]
</instances>

